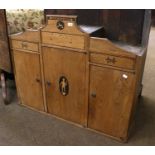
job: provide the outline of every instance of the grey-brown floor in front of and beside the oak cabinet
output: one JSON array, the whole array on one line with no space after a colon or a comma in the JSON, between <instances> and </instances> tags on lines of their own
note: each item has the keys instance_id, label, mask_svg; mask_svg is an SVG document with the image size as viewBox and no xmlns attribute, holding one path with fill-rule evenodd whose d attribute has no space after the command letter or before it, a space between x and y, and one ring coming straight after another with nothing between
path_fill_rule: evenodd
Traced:
<instances>
[{"instance_id":1,"label":"grey-brown floor in front of and beside the oak cabinet","mask_svg":"<svg viewBox=\"0 0 155 155\"><path fill-rule=\"evenodd\" d=\"M0 145L155 145L155 28L151 30L143 78L144 89L136 113L136 124L128 143L68 124L54 117L0 98Z\"/></svg>"}]
</instances>

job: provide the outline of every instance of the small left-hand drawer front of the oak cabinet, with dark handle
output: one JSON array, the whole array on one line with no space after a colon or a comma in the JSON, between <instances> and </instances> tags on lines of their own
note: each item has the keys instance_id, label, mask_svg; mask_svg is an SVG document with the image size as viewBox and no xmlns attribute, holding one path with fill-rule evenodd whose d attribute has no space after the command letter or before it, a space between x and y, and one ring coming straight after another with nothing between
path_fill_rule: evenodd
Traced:
<instances>
[{"instance_id":1,"label":"small left-hand drawer front of the oak cabinet, with dark handle","mask_svg":"<svg viewBox=\"0 0 155 155\"><path fill-rule=\"evenodd\" d=\"M38 52L38 44L25 41L12 40L12 48Z\"/></svg>"}]
</instances>

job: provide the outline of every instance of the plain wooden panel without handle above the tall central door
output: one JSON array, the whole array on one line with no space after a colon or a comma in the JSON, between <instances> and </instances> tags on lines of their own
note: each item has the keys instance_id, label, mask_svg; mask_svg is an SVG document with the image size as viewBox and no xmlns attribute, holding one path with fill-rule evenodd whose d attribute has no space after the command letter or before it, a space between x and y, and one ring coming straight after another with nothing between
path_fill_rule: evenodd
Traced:
<instances>
[{"instance_id":1,"label":"plain wooden panel without handle above the tall central door","mask_svg":"<svg viewBox=\"0 0 155 155\"><path fill-rule=\"evenodd\" d=\"M84 49L84 36L42 32L42 43Z\"/></svg>"}]
</instances>

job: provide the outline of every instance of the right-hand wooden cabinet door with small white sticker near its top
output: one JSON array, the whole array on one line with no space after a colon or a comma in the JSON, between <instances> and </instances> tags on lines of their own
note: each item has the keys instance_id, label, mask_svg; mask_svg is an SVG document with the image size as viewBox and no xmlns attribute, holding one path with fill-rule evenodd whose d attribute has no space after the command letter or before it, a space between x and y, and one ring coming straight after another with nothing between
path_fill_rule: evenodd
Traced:
<instances>
[{"instance_id":1,"label":"right-hand wooden cabinet door with small white sticker near its top","mask_svg":"<svg viewBox=\"0 0 155 155\"><path fill-rule=\"evenodd\" d=\"M88 127L123 139L133 103L134 74L90 67Z\"/></svg>"}]
</instances>

